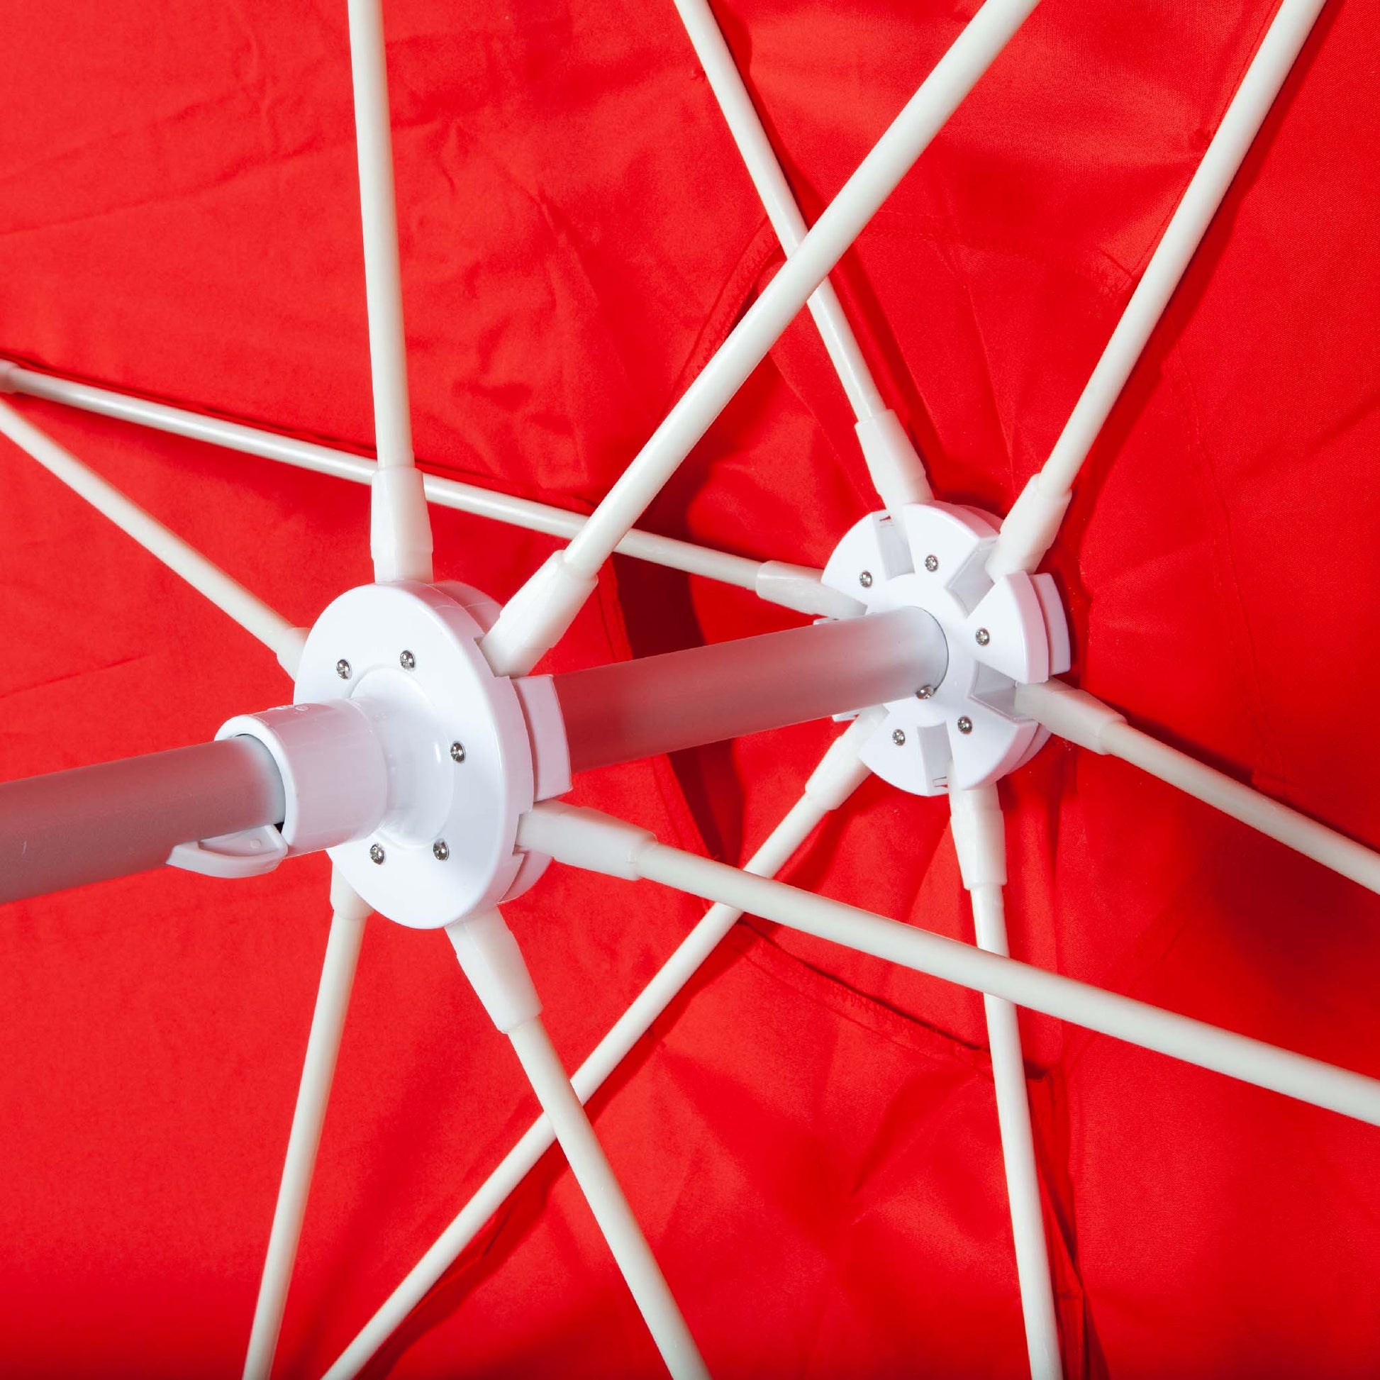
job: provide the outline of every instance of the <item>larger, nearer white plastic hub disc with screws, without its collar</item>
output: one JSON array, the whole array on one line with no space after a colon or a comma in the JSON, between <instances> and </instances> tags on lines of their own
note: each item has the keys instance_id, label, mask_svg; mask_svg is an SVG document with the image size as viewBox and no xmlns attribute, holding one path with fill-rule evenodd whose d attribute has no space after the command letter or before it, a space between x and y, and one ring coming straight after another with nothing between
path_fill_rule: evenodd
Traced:
<instances>
[{"instance_id":1,"label":"larger, nearer white plastic hub disc with screws, without its collar","mask_svg":"<svg viewBox=\"0 0 1380 1380\"><path fill-rule=\"evenodd\" d=\"M515 850L535 769L524 697L479 650L497 614L468 585L363 585L302 650L294 702L348 698L386 765L378 824L327 851L375 911L415 929L489 909L549 861Z\"/></svg>"}]
</instances>

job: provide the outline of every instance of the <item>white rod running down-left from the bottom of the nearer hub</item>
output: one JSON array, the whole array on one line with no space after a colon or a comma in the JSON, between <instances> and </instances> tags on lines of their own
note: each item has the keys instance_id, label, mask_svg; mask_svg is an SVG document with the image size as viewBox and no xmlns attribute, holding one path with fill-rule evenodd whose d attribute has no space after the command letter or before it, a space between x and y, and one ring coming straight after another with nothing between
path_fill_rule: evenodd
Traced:
<instances>
[{"instance_id":1,"label":"white rod running down-left from the bottom of the nearer hub","mask_svg":"<svg viewBox=\"0 0 1380 1380\"><path fill-rule=\"evenodd\" d=\"M277 1350L283 1328L287 1289L302 1235L302 1219L306 1214L306 1195L316 1169L322 1125L326 1121L326 1105L335 1078L335 1058L345 1029L351 989L355 985L355 967L364 938L364 922L368 919L368 907L344 879L335 875L331 876L331 907L326 962L322 965L312 1029L306 1038L302 1082L297 1090L297 1107L293 1110L293 1129L287 1140L277 1205L273 1209L273 1228L268 1239L264 1276L254 1304L254 1325L244 1358L244 1380L268 1380L273 1369L273 1352Z\"/></svg>"}]
</instances>

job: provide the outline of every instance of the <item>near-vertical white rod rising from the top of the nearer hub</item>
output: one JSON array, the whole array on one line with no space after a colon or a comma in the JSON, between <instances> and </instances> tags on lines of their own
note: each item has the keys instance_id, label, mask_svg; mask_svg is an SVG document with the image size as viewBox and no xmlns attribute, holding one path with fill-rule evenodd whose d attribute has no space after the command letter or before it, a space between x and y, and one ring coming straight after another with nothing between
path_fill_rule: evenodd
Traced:
<instances>
[{"instance_id":1,"label":"near-vertical white rod rising from the top of the nearer hub","mask_svg":"<svg viewBox=\"0 0 1380 1380\"><path fill-rule=\"evenodd\" d=\"M355 146L364 230L364 299L374 435L379 473L373 489L370 548L377 580L432 578L431 519L413 458L403 334L403 279L397 253L393 135L382 0L349 0ZM406 475L393 475L406 471Z\"/></svg>"}]
</instances>

